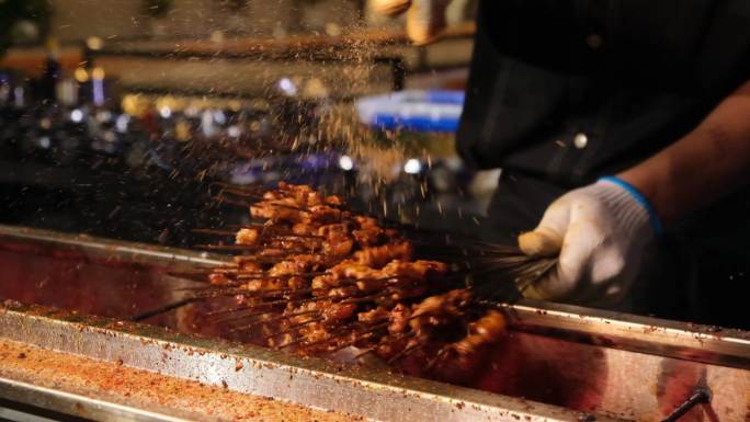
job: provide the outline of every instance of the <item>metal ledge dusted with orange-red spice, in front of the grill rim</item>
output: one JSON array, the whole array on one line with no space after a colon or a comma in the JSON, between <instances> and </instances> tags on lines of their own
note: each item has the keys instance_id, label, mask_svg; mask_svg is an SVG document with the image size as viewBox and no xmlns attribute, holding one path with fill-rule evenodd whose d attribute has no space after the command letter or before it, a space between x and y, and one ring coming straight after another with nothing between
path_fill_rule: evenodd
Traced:
<instances>
[{"instance_id":1,"label":"metal ledge dusted with orange-red spice, in front of the grill rim","mask_svg":"<svg viewBox=\"0 0 750 422\"><path fill-rule=\"evenodd\" d=\"M59 413L104 421L362 420L7 339L0 339L2 408L46 421L59 420Z\"/></svg>"}]
</instances>

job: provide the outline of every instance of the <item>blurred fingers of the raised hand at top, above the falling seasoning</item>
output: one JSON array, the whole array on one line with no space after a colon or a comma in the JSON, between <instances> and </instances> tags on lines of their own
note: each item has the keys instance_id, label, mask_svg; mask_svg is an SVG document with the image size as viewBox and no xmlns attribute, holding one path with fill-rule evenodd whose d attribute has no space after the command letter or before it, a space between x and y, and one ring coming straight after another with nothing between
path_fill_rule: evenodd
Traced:
<instances>
[{"instance_id":1,"label":"blurred fingers of the raised hand at top, above the falling seasoning","mask_svg":"<svg viewBox=\"0 0 750 422\"><path fill-rule=\"evenodd\" d=\"M451 0L371 0L376 13L396 16L407 12L407 35L414 44L433 41L446 25L445 9Z\"/></svg>"}]
</instances>

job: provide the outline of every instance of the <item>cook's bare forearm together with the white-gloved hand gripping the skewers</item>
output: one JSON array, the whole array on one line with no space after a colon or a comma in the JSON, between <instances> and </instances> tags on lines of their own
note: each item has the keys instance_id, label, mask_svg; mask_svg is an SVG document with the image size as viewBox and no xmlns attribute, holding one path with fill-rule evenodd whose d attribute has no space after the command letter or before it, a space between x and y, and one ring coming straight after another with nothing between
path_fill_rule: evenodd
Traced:
<instances>
[{"instance_id":1,"label":"cook's bare forearm together with the white-gloved hand gripping the skewers","mask_svg":"<svg viewBox=\"0 0 750 422\"><path fill-rule=\"evenodd\" d=\"M750 81L693 132L617 176L562 195L533 231L519 237L530 255L559 256L527 297L584 305L621 300L661 229L659 220L679 219L748 183Z\"/></svg>"}]
</instances>

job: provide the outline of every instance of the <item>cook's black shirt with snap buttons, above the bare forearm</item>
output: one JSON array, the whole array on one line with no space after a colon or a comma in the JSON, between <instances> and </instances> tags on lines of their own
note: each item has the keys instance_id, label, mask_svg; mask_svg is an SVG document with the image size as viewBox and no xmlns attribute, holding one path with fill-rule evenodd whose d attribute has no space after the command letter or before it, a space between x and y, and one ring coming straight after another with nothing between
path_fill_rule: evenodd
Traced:
<instances>
[{"instance_id":1,"label":"cook's black shirt with snap buttons, above the bare forearm","mask_svg":"<svg viewBox=\"0 0 750 422\"><path fill-rule=\"evenodd\" d=\"M748 0L486 0L462 156L575 186L692 130L750 78Z\"/></svg>"}]
</instances>

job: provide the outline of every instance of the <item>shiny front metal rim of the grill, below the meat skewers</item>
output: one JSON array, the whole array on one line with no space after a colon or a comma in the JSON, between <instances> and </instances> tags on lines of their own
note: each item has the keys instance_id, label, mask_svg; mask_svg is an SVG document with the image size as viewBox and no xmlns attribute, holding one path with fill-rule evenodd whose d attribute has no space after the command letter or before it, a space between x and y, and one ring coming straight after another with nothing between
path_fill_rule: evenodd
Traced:
<instances>
[{"instance_id":1,"label":"shiny front metal rim of the grill, below the meat skewers","mask_svg":"<svg viewBox=\"0 0 750 422\"><path fill-rule=\"evenodd\" d=\"M109 319L11 306L3 337L235 391L380 421L578 421L581 412ZM601 418L600 418L601 420Z\"/></svg>"}]
</instances>

